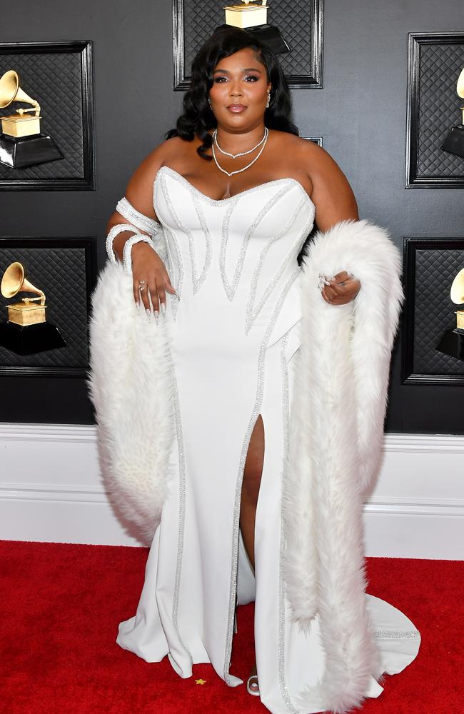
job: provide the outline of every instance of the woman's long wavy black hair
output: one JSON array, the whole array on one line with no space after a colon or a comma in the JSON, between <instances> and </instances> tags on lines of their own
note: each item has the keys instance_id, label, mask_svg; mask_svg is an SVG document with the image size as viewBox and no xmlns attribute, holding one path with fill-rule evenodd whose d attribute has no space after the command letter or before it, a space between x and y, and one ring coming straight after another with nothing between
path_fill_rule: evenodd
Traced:
<instances>
[{"instance_id":1,"label":"woman's long wavy black hair","mask_svg":"<svg viewBox=\"0 0 464 714\"><path fill-rule=\"evenodd\" d=\"M186 141L193 141L197 136L203 142L196 150L202 159L211 161L206 151L213 139L208 129L217 126L216 117L208 105L208 93L213 86L213 71L223 57L228 57L241 49L251 47L266 67L268 81L272 84L271 101L264 113L264 124L268 129L299 132L291 120L291 94L286 77L276 55L266 45L253 37L246 30L232 26L221 26L201 46L192 62L192 81L183 98L183 112L178 117L176 129L166 132L166 139L180 136Z\"/></svg>"}]
</instances>

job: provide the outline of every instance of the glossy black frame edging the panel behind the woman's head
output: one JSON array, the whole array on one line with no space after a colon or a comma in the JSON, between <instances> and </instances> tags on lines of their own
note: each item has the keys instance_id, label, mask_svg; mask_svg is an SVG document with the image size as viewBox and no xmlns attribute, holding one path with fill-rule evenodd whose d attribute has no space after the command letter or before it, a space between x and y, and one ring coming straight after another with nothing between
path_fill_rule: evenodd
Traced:
<instances>
[{"instance_id":1,"label":"glossy black frame edging the panel behind the woman's head","mask_svg":"<svg viewBox=\"0 0 464 714\"><path fill-rule=\"evenodd\" d=\"M323 88L323 26L324 0L307 0L311 6L311 42L309 42L309 74L290 74L286 76L291 89ZM190 77L186 76L184 48L184 4L186 0L172 0L173 14L173 89L190 89ZM303 30L303 28L302 28Z\"/></svg>"}]
</instances>

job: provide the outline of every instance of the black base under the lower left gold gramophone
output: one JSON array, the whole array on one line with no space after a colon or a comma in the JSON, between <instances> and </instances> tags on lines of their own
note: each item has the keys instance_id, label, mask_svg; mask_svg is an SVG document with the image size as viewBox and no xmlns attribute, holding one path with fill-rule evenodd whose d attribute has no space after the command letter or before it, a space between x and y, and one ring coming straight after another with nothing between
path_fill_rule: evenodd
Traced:
<instances>
[{"instance_id":1,"label":"black base under the lower left gold gramophone","mask_svg":"<svg viewBox=\"0 0 464 714\"><path fill-rule=\"evenodd\" d=\"M66 346L59 329L49 322L21 327L14 322L0 323L0 346L17 355L34 355Z\"/></svg>"}]
</instances>

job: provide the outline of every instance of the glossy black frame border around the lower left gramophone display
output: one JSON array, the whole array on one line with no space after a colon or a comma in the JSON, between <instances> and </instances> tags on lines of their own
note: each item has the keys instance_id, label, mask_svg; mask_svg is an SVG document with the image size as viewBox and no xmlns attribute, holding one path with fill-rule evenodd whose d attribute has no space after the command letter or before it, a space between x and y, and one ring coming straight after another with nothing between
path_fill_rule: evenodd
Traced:
<instances>
[{"instance_id":1,"label":"glossy black frame border around the lower left gramophone display","mask_svg":"<svg viewBox=\"0 0 464 714\"><path fill-rule=\"evenodd\" d=\"M96 286L98 276L97 268L97 238L96 236L80 237L37 237L14 238L11 236L0 237L1 248L84 248L86 256L86 315L87 333L89 336L89 319L91 316L91 294ZM3 300L3 298L0 299ZM89 338L89 337L88 337ZM89 350L88 350L88 356ZM1 376L35 376L35 377L79 377L86 378L89 374L89 362L86 367L50 367L50 366L9 366L0 364Z\"/></svg>"}]
</instances>

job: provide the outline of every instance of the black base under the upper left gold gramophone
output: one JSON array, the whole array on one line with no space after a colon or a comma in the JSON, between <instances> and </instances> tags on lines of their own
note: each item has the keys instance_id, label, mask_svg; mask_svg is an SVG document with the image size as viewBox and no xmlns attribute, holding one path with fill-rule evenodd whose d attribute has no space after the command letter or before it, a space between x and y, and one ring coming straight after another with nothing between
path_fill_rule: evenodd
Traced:
<instances>
[{"instance_id":1,"label":"black base under the upper left gold gramophone","mask_svg":"<svg viewBox=\"0 0 464 714\"><path fill-rule=\"evenodd\" d=\"M26 169L27 166L37 166L63 158L54 140L46 134L19 138L0 134L0 164L10 166L11 169Z\"/></svg>"}]
</instances>

